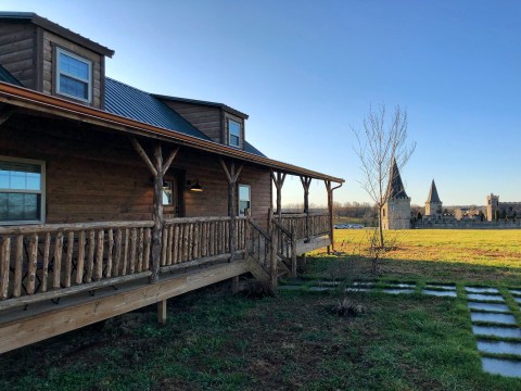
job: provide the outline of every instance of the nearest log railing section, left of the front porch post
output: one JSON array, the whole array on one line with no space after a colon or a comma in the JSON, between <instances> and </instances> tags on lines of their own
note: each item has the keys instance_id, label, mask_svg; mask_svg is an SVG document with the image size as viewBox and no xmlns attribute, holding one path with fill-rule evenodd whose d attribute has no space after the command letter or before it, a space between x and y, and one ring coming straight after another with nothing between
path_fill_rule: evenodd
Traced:
<instances>
[{"instance_id":1,"label":"nearest log railing section, left of the front porch post","mask_svg":"<svg viewBox=\"0 0 521 391\"><path fill-rule=\"evenodd\" d=\"M150 276L152 226L0 227L0 310Z\"/></svg>"}]
</instances>

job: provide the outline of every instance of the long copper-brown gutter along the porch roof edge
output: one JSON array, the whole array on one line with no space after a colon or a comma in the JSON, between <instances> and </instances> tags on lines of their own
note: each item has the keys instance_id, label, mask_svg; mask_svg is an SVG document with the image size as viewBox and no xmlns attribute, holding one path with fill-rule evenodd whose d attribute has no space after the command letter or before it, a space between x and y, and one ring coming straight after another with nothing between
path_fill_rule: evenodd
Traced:
<instances>
[{"instance_id":1,"label":"long copper-brown gutter along the porch roof edge","mask_svg":"<svg viewBox=\"0 0 521 391\"><path fill-rule=\"evenodd\" d=\"M267 166L269 168L285 172L288 174L308 176L322 180L331 180L339 184L344 182L344 179L342 178L332 177L276 160L257 156L253 153L237 150L214 141L202 140L179 131L144 124L119 115L111 114L99 109L93 109L2 81L0 81L0 102L37 112L53 114L61 117L82 121L111 129L138 134L144 137L158 138L202 151L217 153L223 156L240 159L242 161Z\"/></svg>"}]
</instances>

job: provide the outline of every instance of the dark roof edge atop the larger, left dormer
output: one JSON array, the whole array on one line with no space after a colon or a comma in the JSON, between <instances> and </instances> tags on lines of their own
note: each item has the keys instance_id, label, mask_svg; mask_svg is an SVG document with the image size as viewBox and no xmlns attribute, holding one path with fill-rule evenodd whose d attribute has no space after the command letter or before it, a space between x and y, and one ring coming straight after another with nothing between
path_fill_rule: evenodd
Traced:
<instances>
[{"instance_id":1,"label":"dark roof edge atop the larger, left dormer","mask_svg":"<svg viewBox=\"0 0 521 391\"><path fill-rule=\"evenodd\" d=\"M62 27L59 24L51 22L45 17L39 16L34 12L15 12L15 11L0 11L0 21L3 22L22 22L22 23L33 23L37 26L40 26L51 33L54 33L59 36L65 37L72 40L75 43L78 43L85 48L88 48L92 51L96 51L100 54L112 58L114 55L114 50L109 49L98 42L94 42L84 36L80 36L77 33L69 30L68 28Z\"/></svg>"}]
</instances>

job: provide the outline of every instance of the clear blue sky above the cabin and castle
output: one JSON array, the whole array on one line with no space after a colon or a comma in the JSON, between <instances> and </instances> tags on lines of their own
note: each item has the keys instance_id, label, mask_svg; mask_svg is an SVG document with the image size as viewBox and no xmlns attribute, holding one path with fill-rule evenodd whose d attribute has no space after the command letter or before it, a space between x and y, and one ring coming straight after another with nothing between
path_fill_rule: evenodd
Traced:
<instances>
[{"instance_id":1,"label":"clear blue sky above the cabin and castle","mask_svg":"<svg viewBox=\"0 0 521 391\"><path fill-rule=\"evenodd\" d=\"M115 50L106 74L150 92L226 103L269 157L357 182L350 126L407 108L414 204L521 201L521 1L9 1ZM326 202L322 182L310 201ZM298 178L283 201L302 202Z\"/></svg>"}]
</instances>

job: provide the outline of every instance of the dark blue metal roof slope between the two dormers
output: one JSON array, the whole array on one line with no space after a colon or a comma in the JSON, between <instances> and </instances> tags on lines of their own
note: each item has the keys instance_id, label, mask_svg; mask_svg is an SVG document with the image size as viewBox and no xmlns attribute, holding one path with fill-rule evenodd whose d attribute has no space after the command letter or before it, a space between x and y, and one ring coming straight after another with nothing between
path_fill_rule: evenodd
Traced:
<instances>
[{"instance_id":1,"label":"dark blue metal roof slope between the two dormers","mask_svg":"<svg viewBox=\"0 0 521 391\"><path fill-rule=\"evenodd\" d=\"M211 139L152 94L105 77L105 111L149 125Z\"/></svg>"}]
</instances>

